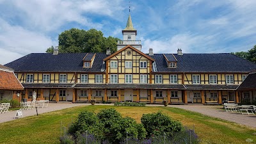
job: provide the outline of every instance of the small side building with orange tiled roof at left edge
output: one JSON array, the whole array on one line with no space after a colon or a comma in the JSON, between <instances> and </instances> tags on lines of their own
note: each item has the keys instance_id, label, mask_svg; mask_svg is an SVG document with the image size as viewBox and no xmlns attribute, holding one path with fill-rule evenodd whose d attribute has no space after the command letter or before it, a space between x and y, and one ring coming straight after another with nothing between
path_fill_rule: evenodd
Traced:
<instances>
[{"instance_id":1,"label":"small side building with orange tiled roof at left edge","mask_svg":"<svg viewBox=\"0 0 256 144\"><path fill-rule=\"evenodd\" d=\"M13 69L0 65L0 101L21 100L20 93L24 87L13 73Z\"/></svg>"}]
</instances>

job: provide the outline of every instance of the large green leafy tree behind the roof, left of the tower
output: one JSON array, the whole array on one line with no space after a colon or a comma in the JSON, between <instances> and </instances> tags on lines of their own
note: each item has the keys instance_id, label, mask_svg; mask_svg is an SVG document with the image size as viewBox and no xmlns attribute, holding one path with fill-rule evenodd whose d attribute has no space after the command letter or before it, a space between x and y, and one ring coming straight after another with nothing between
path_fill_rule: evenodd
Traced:
<instances>
[{"instance_id":1,"label":"large green leafy tree behind the roof, left of the tower","mask_svg":"<svg viewBox=\"0 0 256 144\"><path fill-rule=\"evenodd\" d=\"M116 51L118 38L108 36L104 37L102 31L97 29L72 28L63 31L59 35L59 52L106 52L109 47L111 52ZM53 46L49 47L46 52L53 52Z\"/></svg>"}]
</instances>

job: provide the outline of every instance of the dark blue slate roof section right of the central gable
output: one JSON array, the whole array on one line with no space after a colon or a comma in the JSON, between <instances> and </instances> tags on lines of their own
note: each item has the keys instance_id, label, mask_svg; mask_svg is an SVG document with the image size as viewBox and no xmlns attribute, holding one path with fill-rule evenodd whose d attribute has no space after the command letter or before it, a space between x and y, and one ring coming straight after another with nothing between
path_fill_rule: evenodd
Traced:
<instances>
[{"instance_id":1,"label":"dark blue slate roof section right of the central gable","mask_svg":"<svg viewBox=\"0 0 256 144\"><path fill-rule=\"evenodd\" d=\"M177 68L168 68L163 54L151 56L156 61L157 72L250 72L256 64L234 54L173 54Z\"/></svg>"}]
</instances>

